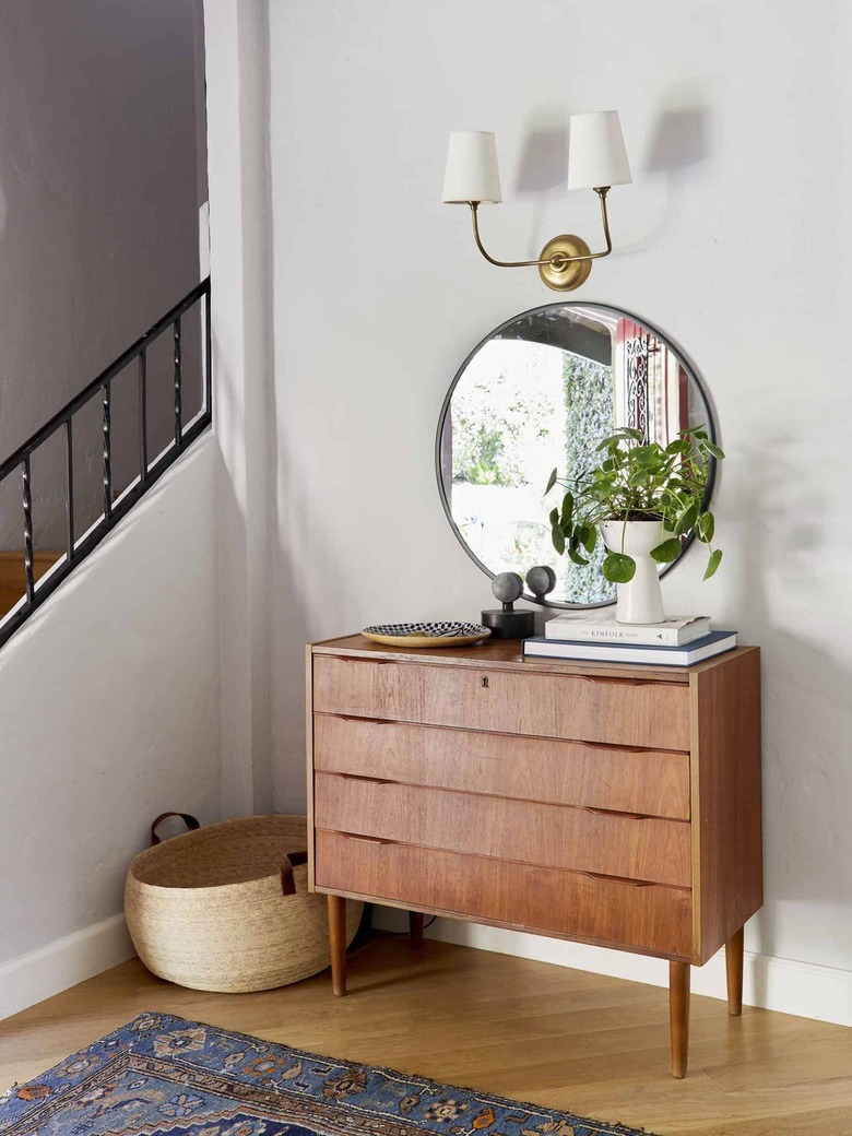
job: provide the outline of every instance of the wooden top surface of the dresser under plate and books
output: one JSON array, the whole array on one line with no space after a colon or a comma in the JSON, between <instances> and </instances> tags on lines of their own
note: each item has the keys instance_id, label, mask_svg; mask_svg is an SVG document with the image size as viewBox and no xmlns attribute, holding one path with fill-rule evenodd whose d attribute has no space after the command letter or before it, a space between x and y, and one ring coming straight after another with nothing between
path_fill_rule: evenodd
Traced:
<instances>
[{"instance_id":1,"label":"wooden top surface of the dresser under plate and books","mask_svg":"<svg viewBox=\"0 0 852 1136\"><path fill-rule=\"evenodd\" d=\"M654 667L635 662L591 663L574 659L524 658L519 640L484 640L471 646L407 648L385 646L374 643L364 635L345 635L341 638L324 640L310 645L315 654L335 654L346 658L384 659L394 662L424 662L456 667L496 667L500 669L524 669L544 671L551 675L590 675L611 678L652 679L665 683L688 683L690 675L708 668L724 666L727 660L751 651L754 646L741 646L734 651L694 663L692 667Z\"/></svg>"}]
</instances>

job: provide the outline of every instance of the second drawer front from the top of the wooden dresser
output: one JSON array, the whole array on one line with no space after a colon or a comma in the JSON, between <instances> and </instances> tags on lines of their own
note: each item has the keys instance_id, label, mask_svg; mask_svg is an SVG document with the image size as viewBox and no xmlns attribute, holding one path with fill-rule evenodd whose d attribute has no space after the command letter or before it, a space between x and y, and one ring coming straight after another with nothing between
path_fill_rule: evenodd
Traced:
<instances>
[{"instance_id":1,"label":"second drawer front from the top of the wooden dresser","mask_svg":"<svg viewBox=\"0 0 852 1136\"><path fill-rule=\"evenodd\" d=\"M314 763L409 785L690 818L686 753L315 715Z\"/></svg>"}]
</instances>

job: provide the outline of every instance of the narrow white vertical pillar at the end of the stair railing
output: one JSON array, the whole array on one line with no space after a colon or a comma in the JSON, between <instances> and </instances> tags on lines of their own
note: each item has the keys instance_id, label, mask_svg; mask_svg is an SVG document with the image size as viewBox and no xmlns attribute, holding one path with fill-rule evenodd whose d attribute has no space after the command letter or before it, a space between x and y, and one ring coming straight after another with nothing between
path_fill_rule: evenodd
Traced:
<instances>
[{"instance_id":1,"label":"narrow white vertical pillar at the end of the stair railing","mask_svg":"<svg viewBox=\"0 0 852 1136\"><path fill-rule=\"evenodd\" d=\"M226 816L269 812L269 541L275 415L269 376L266 23L262 0L206 0L210 140L214 428L222 800ZM277 692L276 692L277 698Z\"/></svg>"}]
</instances>

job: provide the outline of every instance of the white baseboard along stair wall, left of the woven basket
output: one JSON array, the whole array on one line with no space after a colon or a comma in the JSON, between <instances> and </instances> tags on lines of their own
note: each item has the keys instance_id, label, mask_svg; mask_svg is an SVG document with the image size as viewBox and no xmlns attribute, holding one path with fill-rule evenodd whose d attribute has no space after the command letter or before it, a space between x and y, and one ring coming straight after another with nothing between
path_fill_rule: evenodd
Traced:
<instances>
[{"instance_id":1,"label":"white baseboard along stair wall, left of the woven basket","mask_svg":"<svg viewBox=\"0 0 852 1136\"><path fill-rule=\"evenodd\" d=\"M93 978L133 954L124 916L112 916L0 963L0 1018Z\"/></svg>"}]
</instances>

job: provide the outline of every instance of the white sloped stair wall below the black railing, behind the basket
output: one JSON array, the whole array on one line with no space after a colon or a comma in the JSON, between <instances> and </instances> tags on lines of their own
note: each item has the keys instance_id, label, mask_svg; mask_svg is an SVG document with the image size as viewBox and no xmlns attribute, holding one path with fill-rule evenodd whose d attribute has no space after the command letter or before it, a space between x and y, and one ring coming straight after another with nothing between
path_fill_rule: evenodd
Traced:
<instances>
[{"instance_id":1,"label":"white sloped stair wall below the black railing, behind the basket","mask_svg":"<svg viewBox=\"0 0 852 1136\"><path fill-rule=\"evenodd\" d=\"M0 1018L130 957L156 816L219 819L218 460L207 434L0 651Z\"/></svg>"}]
</instances>

